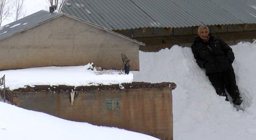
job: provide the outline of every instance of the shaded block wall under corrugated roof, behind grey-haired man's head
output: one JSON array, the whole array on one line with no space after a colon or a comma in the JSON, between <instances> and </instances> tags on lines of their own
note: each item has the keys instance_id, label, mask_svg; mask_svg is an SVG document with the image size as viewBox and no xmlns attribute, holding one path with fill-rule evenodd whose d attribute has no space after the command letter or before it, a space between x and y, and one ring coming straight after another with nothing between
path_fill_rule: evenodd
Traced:
<instances>
[{"instance_id":1,"label":"shaded block wall under corrugated roof, behind grey-haired man's head","mask_svg":"<svg viewBox=\"0 0 256 140\"><path fill-rule=\"evenodd\" d=\"M164 48L171 48L173 45L190 47L197 37L197 28L146 28L116 31L123 35L141 41L146 46L140 46L140 50L157 52ZM229 45L237 44L240 41L253 42L256 38L256 24L230 24L208 26L209 32L217 38L222 38ZM127 34L129 32L129 34Z\"/></svg>"}]
</instances>

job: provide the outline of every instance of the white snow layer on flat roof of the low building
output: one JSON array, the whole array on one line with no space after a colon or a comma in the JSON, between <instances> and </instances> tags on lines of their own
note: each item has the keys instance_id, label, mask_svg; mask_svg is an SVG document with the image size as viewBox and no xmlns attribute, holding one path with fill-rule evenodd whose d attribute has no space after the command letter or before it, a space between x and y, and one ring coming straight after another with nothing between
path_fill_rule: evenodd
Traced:
<instances>
[{"instance_id":1,"label":"white snow layer on flat roof of the low building","mask_svg":"<svg viewBox=\"0 0 256 140\"><path fill-rule=\"evenodd\" d=\"M42 67L20 70L0 71L0 77L5 75L6 87L10 90L26 85L111 85L133 81L133 74L119 75L120 71L88 70L92 64L85 66Z\"/></svg>"}]
</instances>

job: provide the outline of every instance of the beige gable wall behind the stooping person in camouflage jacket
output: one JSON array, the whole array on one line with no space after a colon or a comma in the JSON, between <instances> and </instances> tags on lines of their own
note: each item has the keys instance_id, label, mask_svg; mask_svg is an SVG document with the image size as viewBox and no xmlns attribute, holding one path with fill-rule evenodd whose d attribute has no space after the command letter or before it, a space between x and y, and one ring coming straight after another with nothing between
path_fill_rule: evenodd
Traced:
<instances>
[{"instance_id":1,"label":"beige gable wall behind the stooping person in camouflage jacket","mask_svg":"<svg viewBox=\"0 0 256 140\"><path fill-rule=\"evenodd\" d=\"M0 69L94 63L121 69L121 53L139 70L138 44L85 22L60 16L0 41Z\"/></svg>"}]
</instances>

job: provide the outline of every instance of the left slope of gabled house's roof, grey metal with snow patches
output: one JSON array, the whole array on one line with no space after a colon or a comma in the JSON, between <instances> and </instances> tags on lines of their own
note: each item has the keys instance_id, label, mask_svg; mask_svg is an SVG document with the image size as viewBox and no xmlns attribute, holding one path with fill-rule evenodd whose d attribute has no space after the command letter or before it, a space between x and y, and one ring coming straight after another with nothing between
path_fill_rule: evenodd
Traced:
<instances>
[{"instance_id":1,"label":"left slope of gabled house's roof, grey metal with snow patches","mask_svg":"<svg viewBox=\"0 0 256 140\"><path fill-rule=\"evenodd\" d=\"M0 27L0 40L59 15L61 15L61 13L54 12L50 14L48 11L41 10L17 21L9 23Z\"/></svg>"}]
</instances>

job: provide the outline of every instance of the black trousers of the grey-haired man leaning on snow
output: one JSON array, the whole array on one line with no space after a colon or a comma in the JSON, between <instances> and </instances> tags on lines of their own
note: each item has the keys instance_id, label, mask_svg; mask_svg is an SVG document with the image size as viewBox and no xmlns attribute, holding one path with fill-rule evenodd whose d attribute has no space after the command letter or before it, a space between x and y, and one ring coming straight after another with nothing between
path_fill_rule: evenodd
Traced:
<instances>
[{"instance_id":1,"label":"black trousers of the grey-haired man leaning on snow","mask_svg":"<svg viewBox=\"0 0 256 140\"><path fill-rule=\"evenodd\" d=\"M209 80L212 82L217 94L219 96L226 96L225 88L227 92L233 99L233 103L236 105L240 105L242 103L242 98L240 97L240 93L238 87L236 85L236 77L234 70L227 70L224 72L210 73L207 74ZM226 98L226 100L228 100Z\"/></svg>"}]
</instances>

